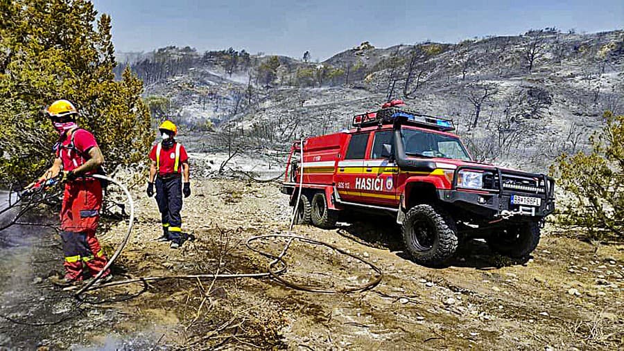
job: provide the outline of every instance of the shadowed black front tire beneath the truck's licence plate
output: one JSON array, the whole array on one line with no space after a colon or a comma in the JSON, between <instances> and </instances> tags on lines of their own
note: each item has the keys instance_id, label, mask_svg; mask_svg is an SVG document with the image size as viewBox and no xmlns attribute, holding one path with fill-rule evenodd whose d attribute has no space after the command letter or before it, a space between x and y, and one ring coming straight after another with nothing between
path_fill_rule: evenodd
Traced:
<instances>
[{"instance_id":1,"label":"shadowed black front tire beneath the truck's licence plate","mask_svg":"<svg viewBox=\"0 0 624 351\"><path fill-rule=\"evenodd\" d=\"M539 243L540 228L537 222L512 224L485 238L492 251L511 258L525 258Z\"/></svg>"}]
</instances>

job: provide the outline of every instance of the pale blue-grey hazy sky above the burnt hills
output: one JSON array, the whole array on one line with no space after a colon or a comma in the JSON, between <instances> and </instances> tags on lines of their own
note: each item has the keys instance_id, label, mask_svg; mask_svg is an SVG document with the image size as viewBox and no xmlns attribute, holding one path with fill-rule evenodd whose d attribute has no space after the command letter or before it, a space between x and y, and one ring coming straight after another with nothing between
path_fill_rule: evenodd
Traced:
<instances>
[{"instance_id":1,"label":"pale blue-grey hazy sky above the burnt hills","mask_svg":"<svg viewBox=\"0 0 624 351\"><path fill-rule=\"evenodd\" d=\"M376 47L425 40L456 43L485 35L519 35L556 27L577 33L624 28L624 0L94 0L112 16L117 51L168 45L199 51L234 47L249 53L313 60L369 41Z\"/></svg>"}]
</instances>

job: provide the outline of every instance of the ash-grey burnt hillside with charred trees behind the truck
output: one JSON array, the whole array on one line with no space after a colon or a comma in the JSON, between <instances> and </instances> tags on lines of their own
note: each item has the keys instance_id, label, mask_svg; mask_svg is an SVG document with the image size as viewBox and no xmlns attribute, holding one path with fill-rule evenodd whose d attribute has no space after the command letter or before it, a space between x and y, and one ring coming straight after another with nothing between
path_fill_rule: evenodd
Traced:
<instances>
[{"instance_id":1,"label":"ash-grey burnt hillside with charred trees behind the truck","mask_svg":"<svg viewBox=\"0 0 624 351\"><path fill-rule=\"evenodd\" d=\"M584 147L603 111L621 112L624 101L623 30L363 43L320 63L170 47L129 64L147 96L166 98L163 113L197 129L217 125L230 138L239 133L245 143L335 132L353 114L404 98L411 109L456 120L477 159L542 170Z\"/></svg>"}]
</instances>

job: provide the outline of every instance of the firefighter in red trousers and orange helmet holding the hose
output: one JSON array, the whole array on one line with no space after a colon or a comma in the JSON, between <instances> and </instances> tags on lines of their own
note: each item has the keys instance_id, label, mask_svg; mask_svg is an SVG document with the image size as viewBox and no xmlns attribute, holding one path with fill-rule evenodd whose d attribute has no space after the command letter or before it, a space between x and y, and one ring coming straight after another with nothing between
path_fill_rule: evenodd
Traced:
<instances>
[{"instance_id":1,"label":"firefighter in red trousers and orange helmet holding the hose","mask_svg":"<svg viewBox=\"0 0 624 351\"><path fill-rule=\"evenodd\" d=\"M78 110L67 100L53 102L45 111L59 134L52 167L34 183L39 186L57 176L65 183L60 212L65 256L62 282L83 280L83 273L96 276L107 259L95 236L102 206L102 186L92 177L104 163L93 134L78 128ZM83 271L83 264L88 272ZM102 278L110 280L110 270Z\"/></svg>"}]
</instances>

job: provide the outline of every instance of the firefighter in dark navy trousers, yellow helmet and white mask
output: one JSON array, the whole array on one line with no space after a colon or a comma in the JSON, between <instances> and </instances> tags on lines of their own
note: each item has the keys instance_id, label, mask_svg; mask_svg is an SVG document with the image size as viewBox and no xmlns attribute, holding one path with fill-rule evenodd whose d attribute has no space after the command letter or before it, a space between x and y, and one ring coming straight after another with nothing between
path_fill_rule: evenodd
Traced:
<instances>
[{"instance_id":1,"label":"firefighter in dark navy trousers, yellow helmet and white mask","mask_svg":"<svg viewBox=\"0 0 624 351\"><path fill-rule=\"evenodd\" d=\"M165 120L158 129L162 141L150 152L152 165L147 194L152 197L156 186L156 202L162 217L162 236L157 240L171 241L171 248L177 249L182 243L182 193L184 197L191 195L189 156L184 146L175 141L177 127L171 121Z\"/></svg>"}]
</instances>

